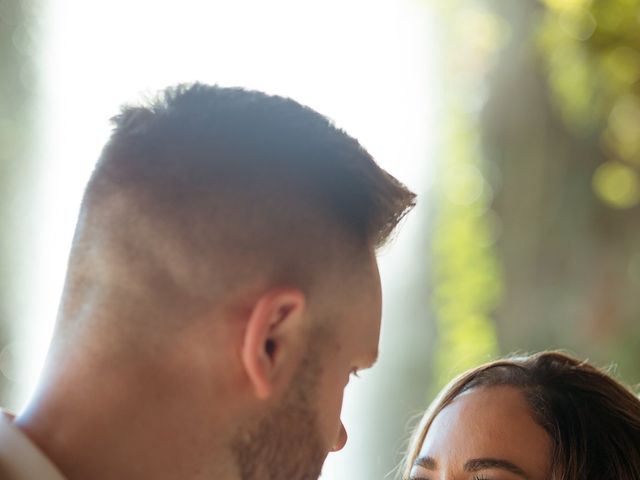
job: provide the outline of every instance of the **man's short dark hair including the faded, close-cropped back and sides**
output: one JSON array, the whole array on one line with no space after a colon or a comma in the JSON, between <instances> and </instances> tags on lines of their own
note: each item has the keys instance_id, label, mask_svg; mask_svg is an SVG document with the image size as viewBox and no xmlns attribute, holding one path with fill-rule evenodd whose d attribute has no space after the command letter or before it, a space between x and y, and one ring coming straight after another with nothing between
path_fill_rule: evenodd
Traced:
<instances>
[{"instance_id":1,"label":"man's short dark hair including the faded, close-cropped back and sides","mask_svg":"<svg viewBox=\"0 0 640 480\"><path fill-rule=\"evenodd\" d=\"M71 279L119 269L132 288L195 295L212 274L261 270L304 286L336 245L380 246L414 205L356 140L288 98L179 85L113 122L83 199Z\"/></svg>"}]
</instances>

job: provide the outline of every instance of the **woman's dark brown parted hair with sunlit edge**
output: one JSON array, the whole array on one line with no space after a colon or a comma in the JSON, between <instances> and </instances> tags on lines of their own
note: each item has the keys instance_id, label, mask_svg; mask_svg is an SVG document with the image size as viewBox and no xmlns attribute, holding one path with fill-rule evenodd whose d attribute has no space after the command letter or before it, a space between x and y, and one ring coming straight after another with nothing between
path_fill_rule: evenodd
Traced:
<instances>
[{"instance_id":1,"label":"woman's dark brown parted hair with sunlit edge","mask_svg":"<svg viewBox=\"0 0 640 480\"><path fill-rule=\"evenodd\" d=\"M553 480L640 479L640 399L602 370L560 352L517 356L469 370L445 387L411 440L406 478L435 418L472 388L520 389L553 443Z\"/></svg>"}]
</instances>

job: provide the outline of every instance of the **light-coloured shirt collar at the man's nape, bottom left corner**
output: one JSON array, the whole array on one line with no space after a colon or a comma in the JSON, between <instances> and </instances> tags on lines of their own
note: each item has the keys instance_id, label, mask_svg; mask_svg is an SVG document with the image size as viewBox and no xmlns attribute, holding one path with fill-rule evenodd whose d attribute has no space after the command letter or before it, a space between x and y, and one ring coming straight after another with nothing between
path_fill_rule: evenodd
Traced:
<instances>
[{"instance_id":1,"label":"light-coloured shirt collar at the man's nape, bottom left corner","mask_svg":"<svg viewBox=\"0 0 640 480\"><path fill-rule=\"evenodd\" d=\"M65 480L51 460L13 424L13 415L0 412L0 479Z\"/></svg>"}]
</instances>

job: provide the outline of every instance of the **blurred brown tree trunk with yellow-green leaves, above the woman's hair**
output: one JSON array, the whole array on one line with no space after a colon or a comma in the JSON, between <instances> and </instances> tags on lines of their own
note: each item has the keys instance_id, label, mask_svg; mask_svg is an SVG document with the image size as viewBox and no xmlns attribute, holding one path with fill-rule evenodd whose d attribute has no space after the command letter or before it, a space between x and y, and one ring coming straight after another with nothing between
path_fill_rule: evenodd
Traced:
<instances>
[{"instance_id":1,"label":"blurred brown tree trunk with yellow-green leaves, above the woman's hair","mask_svg":"<svg viewBox=\"0 0 640 480\"><path fill-rule=\"evenodd\" d=\"M505 294L503 352L568 348L640 380L640 2L492 2L485 158Z\"/></svg>"}]
</instances>

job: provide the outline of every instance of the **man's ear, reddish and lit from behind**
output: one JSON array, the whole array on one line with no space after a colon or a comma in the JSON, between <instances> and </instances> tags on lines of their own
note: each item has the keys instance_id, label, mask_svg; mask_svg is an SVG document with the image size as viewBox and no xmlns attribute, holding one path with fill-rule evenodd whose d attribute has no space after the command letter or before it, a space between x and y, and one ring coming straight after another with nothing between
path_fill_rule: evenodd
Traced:
<instances>
[{"instance_id":1,"label":"man's ear, reddish and lit from behind","mask_svg":"<svg viewBox=\"0 0 640 480\"><path fill-rule=\"evenodd\" d=\"M304 311L304 294L294 288L270 290L254 304L244 334L242 363L258 398L269 398L297 366L305 338Z\"/></svg>"}]
</instances>

